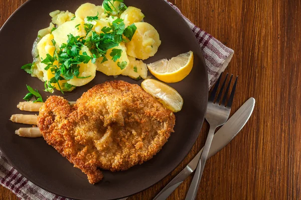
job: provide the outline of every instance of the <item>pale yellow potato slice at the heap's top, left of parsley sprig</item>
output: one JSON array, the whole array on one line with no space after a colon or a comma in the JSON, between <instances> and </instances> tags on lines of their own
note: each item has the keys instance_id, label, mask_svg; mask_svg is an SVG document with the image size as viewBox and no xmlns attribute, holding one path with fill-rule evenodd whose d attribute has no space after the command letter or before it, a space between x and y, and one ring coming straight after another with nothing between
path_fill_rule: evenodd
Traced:
<instances>
[{"instance_id":1,"label":"pale yellow potato slice at the heap's top, left of parsley sprig","mask_svg":"<svg viewBox=\"0 0 301 200\"><path fill-rule=\"evenodd\" d=\"M77 8L75 16L84 20L87 16L96 16L97 13L99 17L102 15L102 6L93 3L84 3Z\"/></svg>"}]
</instances>

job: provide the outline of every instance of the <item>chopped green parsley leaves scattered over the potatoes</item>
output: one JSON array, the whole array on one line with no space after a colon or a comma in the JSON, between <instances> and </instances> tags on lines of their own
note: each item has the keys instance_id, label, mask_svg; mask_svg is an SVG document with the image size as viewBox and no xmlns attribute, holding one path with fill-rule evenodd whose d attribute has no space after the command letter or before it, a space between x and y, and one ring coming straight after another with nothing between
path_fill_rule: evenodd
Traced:
<instances>
[{"instance_id":1,"label":"chopped green parsley leaves scattered over the potatoes","mask_svg":"<svg viewBox=\"0 0 301 200\"><path fill-rule=\"evenodd\" d=\"M123 0L104 0L105 9L116 9L113 6L115 1L119 1L120 4L118 6L119 10L126 9ZM112 6L110 6L112 5ZM109 8L108 8L108 7ZM120 12L118 12L120 14ZM72 18L74 19L75 16ZM72 20L71 19L71 20ZM98 13L96 16L87 16L87 20L96 20L98 19ZM75 27L79 29L81 24L77 24ZM101 29L101 33L98 34L93 29L92 23L84 23L84 29L86 31L85 36L74 36L73 34L68 34L68 40L66 43L57 46L57 42L52 39L52 43L55 46L55 51L53 55L46 54L46 57L41 58L41 63L44 63L45 70L50 70L53 74L53 77L49 80L45 81L45 91L53 92L54 88L58 88L65 91L71 91L76 86L67 83L64 81L63 83L60 80L70 80L74 77L76 78L87 78L89 76L80 76L80 64L92 62L95 63L97 58L102 58L101 63L108 60L106 54L109 49L111 59L114 62L117 62L117 66L121 69L124 69L127 66L126 61L117 61L122 55L122 49L114 48L119 46L121 41L128 41L132 39L133 34L135 33L137 27L135 24L131 24L125 28L125 24L123 19L116 18L109 24L109 27L104 26ZM52 29L55 30L56 27ZM89 36L88 36L89 35ZM125 37L123 37L123 35ZM127 38L127 39L126 39ZM87 52L80 53L83 46L87 46L92 53L92 55L88 55ZM33 73L33 68L35 63L28 63L23 65L21 68L24 69L28 73ZM137 71L137 67L134 67L134 71ZM33 90L35 92L35 90ZM32 92L30 92L32 93ZM30 99L35 94L28 93L26 99ZM38 96L38 100L41 100Z\"/></svg>"}]
</instances>

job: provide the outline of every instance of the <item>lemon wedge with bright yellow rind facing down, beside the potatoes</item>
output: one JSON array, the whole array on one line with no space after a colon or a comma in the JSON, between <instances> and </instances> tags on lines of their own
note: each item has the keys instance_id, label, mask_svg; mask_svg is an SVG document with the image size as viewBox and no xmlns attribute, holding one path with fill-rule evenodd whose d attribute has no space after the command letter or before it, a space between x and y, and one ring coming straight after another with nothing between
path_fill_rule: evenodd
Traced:
<instances>
[{"instance_id":1,"label":"lemon wedge with bright yellow rind facing down, beside the potatoes","mask_svg":"<svg viewBox=\"0 0 301 200\"><path fill-rule=\"evenodd\" d=\"M161 59L147 64L149 71L164 82L183 80L193 67L193 52L182 53L170 60Z\"/></svg>"}]
</instances>

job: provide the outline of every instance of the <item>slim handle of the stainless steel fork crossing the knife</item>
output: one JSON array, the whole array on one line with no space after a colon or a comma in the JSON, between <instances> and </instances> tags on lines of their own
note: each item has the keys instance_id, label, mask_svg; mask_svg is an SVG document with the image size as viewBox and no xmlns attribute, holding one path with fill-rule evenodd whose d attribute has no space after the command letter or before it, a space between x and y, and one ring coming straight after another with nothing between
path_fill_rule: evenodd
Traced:
<instances>
[{"instance_id":1,"label":"slim handle of the stainless steel fork crossing the knife","mask_svg":"<svg viewBox=\"0 0 301 200\"><path fill-rule=\"evenodd\" d=\"M193 176L192 182L190 183L190 187L188 189L187 195L185 197L185 200L194 200L197 197L199 185L201 182L201 177L204 171L205 163L207 160L207 156L210 150L211 142L214 136L216 127L210 127L209 133L206 139L206 143L201 155L201 158L199 160L198 166L196 168L195 174Z\"/></svg>"}]
</instances>

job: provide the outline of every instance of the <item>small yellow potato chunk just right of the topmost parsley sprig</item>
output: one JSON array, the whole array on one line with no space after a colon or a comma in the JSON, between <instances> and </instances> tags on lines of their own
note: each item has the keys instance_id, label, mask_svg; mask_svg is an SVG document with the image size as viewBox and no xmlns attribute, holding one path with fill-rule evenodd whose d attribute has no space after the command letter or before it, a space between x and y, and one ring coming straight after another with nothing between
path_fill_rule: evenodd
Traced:
<instances>
[{"instance_id":1,"label":"small yellow potato chunk just right of the topmost parsley sprig","mask_svg":"<svg viewBox=\"0 0 301 200\"><path fill-rule=\"evenodd\" d=\"M134 22L142 21L144 18L144 14L139 8L129 6L120 15L120 18L124 20L125 26L128 26Z\"/></svg>"}]
</instances>

